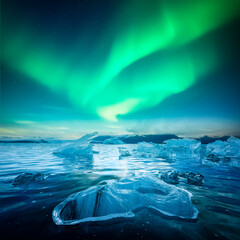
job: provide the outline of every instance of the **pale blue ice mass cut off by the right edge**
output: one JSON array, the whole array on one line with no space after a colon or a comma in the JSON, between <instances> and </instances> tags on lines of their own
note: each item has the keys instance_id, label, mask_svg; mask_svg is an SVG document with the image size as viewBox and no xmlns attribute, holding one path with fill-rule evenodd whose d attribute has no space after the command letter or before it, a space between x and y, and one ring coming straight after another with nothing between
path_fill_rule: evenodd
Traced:
<instances>
[{"instance_id":1,"label":"pale blue ice mass cut off by the right edge","mask_svg":"<svg viewBox=\"0 0 240 240\"><path fill-rule=\"evenodd\" d=\"M206 147L203 159L206 165L228 165L240 167L240 139L230 137L227 141L217 140Z\"/></svg>"}]
</instances>

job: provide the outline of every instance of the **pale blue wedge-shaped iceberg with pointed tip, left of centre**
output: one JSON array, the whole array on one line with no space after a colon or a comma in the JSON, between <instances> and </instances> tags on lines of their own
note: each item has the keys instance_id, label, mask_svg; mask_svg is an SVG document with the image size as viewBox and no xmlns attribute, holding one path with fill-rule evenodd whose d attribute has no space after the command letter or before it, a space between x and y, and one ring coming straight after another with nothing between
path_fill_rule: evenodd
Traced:
<instances>
[{"instance_id":1,"label":"pale blue wedge-shaped iceberg with pointed tip, left of centre","mask_svg":"<svg viewBox=\"0 0 240 240\"><path fill-rule=\"evenodd\" d=\"M66 146L60 147L53 153L61 157L70 158L93 158L93 145L90 144L91 138L97 133L86 134L80 139L74 141L73 143L67 144Z\"/></svg>"}]
</instances>

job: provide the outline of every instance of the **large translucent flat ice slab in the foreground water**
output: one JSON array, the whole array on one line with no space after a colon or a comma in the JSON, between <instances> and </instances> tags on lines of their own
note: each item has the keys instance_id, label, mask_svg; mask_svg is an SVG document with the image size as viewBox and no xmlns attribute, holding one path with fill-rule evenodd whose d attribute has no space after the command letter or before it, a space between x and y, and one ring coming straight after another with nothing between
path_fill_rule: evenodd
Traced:
<instances>
[{"instance_id":1,"label":"large translucent flat ice slab in the foreground water","mask_svg":"<svg viewBox=\"0 0 240 240\"><path fill-rule=\"evenodd\" d=\"M57 205L52 213L55 224L132 218L143 208L155 214L186 220L198 216L198 210L191 202L191 193L166 184L155 176L143 174L105 183L73 194Z\"/></svg>"}]
</instances>

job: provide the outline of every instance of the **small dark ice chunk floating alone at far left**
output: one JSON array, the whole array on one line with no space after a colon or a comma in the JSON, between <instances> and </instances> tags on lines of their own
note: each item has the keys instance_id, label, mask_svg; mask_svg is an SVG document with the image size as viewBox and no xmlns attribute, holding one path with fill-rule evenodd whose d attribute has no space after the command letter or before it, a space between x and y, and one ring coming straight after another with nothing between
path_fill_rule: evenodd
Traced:
<instances>
[{"instance_id":1,"label":"small dark ice chunk floating alone at far left","mask_svg":"<svg viewBox=\"0 0 240 240\"><path fill-rule=\"evenodd\" d=\"M22 173L18 175L12 182L13 186L28 185L30 183L38 183L45 180L42 173Z\"/></svg>"}]
</instances>

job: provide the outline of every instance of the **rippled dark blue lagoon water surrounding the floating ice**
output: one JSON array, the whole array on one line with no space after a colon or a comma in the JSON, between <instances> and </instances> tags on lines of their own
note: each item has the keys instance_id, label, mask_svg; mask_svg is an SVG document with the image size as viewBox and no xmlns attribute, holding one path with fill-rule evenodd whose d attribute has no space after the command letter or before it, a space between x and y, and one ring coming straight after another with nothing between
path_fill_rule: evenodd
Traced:
<instances>
[{"instance_id":1,"label":"rippled dark blue lagoon water surrounding the floating ice","mask_svg":"<svg viewBox=\"0 0 240 240\"><path fill-rule=\"evenodd\" d=\"M119 146L95 144L92 160L53 155L61 144L0 144L0 230L1 239L239 239L240 169L207 166L201 156L184 154L172 158L123 157ZM198 209L196 221L184 221L138 211L131 219L105 223L59 226L52 220L53 209L71 194L97 186L102 181L120 180L132 174L177 170L198 172L202 186L180 182L190 192ZM13 186L21 173L44 173L43 182ZM107 208L108 206L106 206Z\"/></svg>"}]
</instances>

